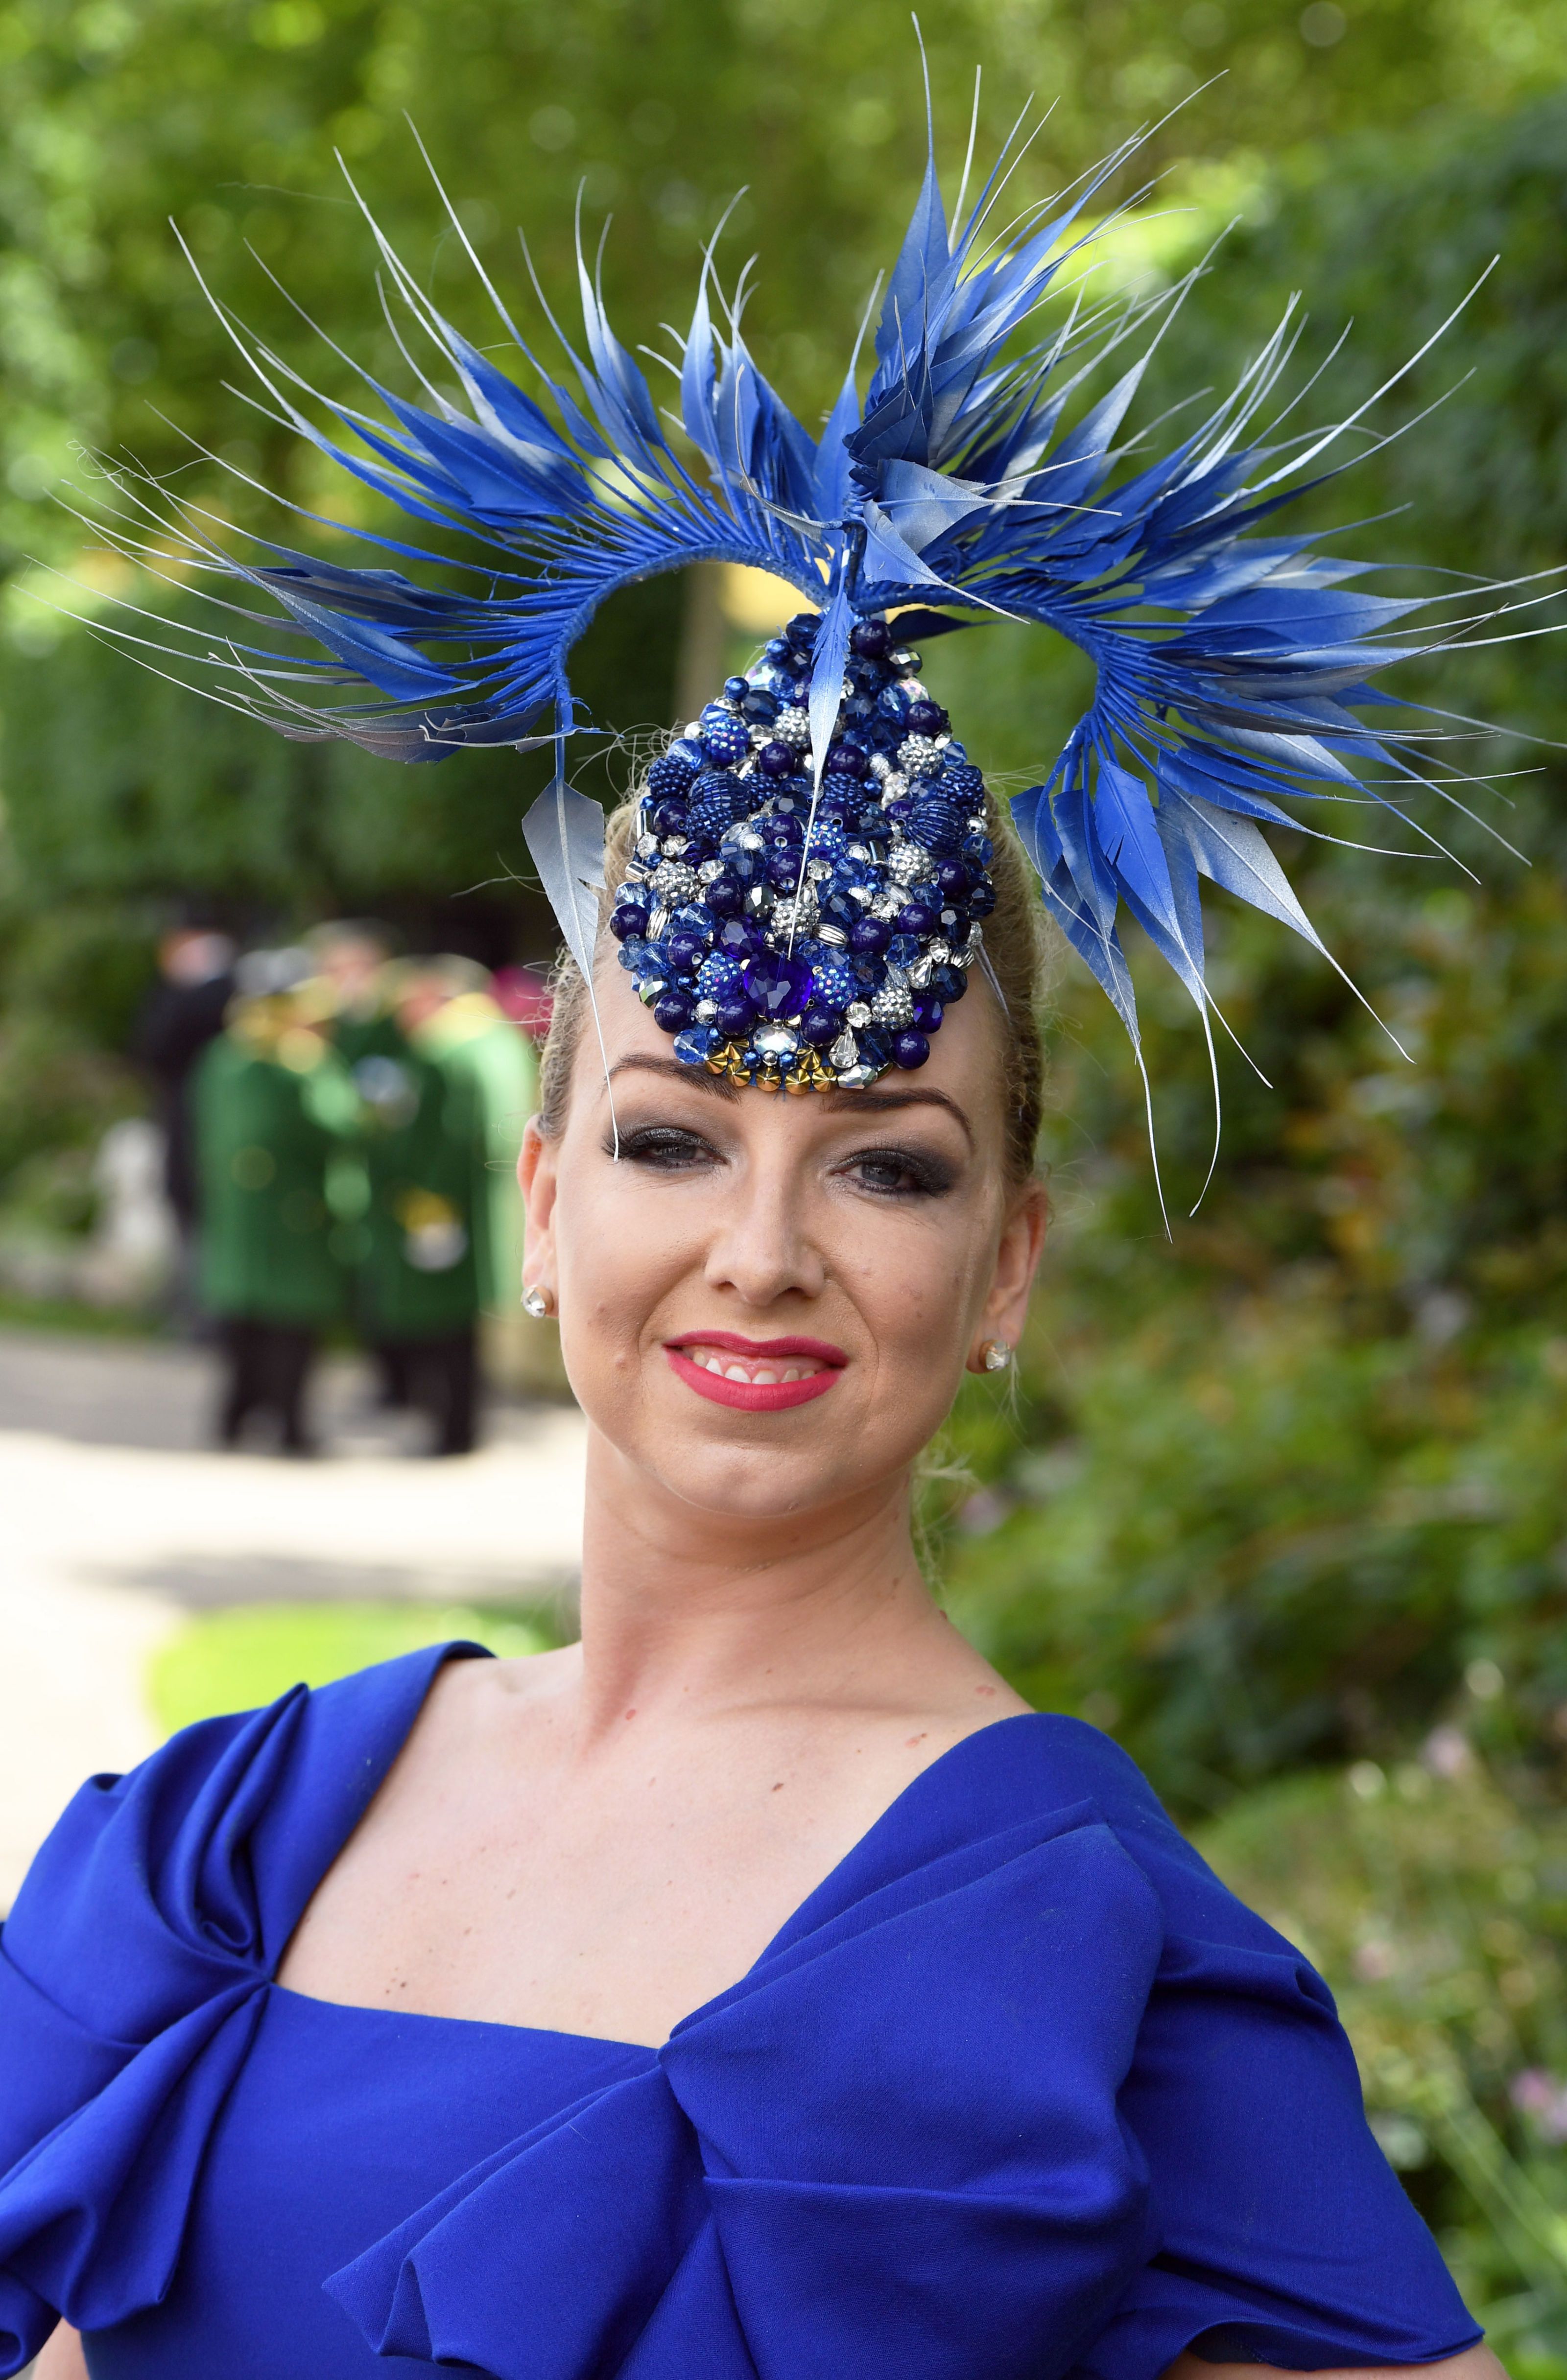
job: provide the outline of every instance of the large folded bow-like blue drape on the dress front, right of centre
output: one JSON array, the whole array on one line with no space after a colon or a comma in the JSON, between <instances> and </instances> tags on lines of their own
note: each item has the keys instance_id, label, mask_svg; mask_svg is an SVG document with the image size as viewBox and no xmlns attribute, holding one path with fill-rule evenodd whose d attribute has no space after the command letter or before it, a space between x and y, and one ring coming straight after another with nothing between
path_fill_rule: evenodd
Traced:
<instances>
[{"instance_id":1,"label":"large folded bow-like blue drape on the dress front, right of centre","mask_svg":"<svg viewBox=\"0 0 1567 2380\"><path fill-rule=\"evenodd\" d=\"M1088 1806L893 1878L326 2287L493 2380L1050 2380L1148 2251L1157 1902Z\"/></svg>"}]
</instances>

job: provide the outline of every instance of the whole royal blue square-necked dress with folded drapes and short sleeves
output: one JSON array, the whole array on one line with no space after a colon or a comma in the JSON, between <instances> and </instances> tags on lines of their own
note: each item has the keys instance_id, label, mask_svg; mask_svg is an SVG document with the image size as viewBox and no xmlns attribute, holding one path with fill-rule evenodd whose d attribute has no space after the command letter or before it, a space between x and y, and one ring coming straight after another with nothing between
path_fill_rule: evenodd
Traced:
<instances>
[{"instance_id":1,"label":"whole royal blue square-necked dress with folded drapes and short sleeves","mask_svg":"<svg viewBox=\"0 0 1567 2380\"><path fill-rule=\"evenodd\" d=\"M943 1754L662 2049L271 1975L436 1647L93 1778L0 1947L0 2373L1157 2380L1477 2340L1326 1987L1072 1718Z\"/></svg>"}]
</instances>

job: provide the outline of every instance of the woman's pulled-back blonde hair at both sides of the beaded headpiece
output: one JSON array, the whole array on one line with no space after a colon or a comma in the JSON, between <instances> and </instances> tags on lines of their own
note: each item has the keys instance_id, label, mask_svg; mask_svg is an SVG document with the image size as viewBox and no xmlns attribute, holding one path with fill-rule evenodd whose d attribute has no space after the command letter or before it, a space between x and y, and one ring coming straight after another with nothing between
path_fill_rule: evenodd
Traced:
<instances>
[{"instance_id":1,"label":"woman's pulled-back blonde hair at both sides of the beaded headpiece","mask_svg":"<svg viewBox=\"0 0 1567 2380\"><path fill-rule=\"evenodd\" d=\"M610 816L605 833L605 892L598 909L600 940L631 859L638 800L641 795L633 795L629 802L622 802ZM1012 821L988 793L986 826L995 845L991 862L995 909L986 919L984 935L1005 1016L1007 1176L1015 1183L1024 1183L1034 1173L1045 1073L1041 1038L1045 995L1043 909L1034 869ZM588 1021L588 988L581 981L576 962L564 950L555 964L550 990L555 1004L538 1071L538 1128L548 1140L555 1140L564 1130L572 1066Z\"/></svg>"}]
</instances>

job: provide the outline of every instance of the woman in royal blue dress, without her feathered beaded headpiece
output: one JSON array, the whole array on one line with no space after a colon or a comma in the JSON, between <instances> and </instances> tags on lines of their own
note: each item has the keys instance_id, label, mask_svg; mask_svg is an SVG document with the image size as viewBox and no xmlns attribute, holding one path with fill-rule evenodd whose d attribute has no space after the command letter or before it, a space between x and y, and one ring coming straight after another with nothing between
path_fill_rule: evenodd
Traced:
<instances>
[{"instance_id":1,"label":"woman in royal blue dress, without her feathered beaded headpiece","mask_svg":"<svg viewBox=\"0 0 1567 2380\"><path fill-rule=\"evenodd\" d=\"M5 2368L29 2294L88 2330L38 2380L1493 2368L1324 1987L919 1578L914 1464L1045 1226L993 876L1005 997L867 1090L681 1064L610 938L605 1076L567 985L522 1180L581 1642L86 1787L5 1944Z\"/></svg>"}]
</instances>

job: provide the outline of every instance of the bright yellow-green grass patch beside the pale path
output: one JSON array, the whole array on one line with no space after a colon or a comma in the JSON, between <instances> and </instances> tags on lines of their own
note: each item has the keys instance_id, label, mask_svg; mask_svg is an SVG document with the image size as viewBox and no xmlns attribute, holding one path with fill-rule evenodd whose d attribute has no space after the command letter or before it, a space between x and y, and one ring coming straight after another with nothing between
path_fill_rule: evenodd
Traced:
<instances>
[{"instance_id":1,"label":"bright yellow-green grass patch beside the pale path","mask_svg":"<svg viewBox=\"0 0 1567 2380\"><path fill-rule=\"evenodd\" d=\"M512 1656L548 1652L560 1630L550 1614L514 1604L233 1604L200 1614L157 1649L148 1702L171 1735L450 1637Z\"/></svg>"}]
</instances>

